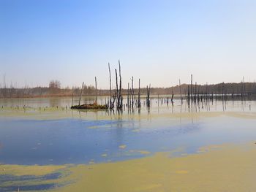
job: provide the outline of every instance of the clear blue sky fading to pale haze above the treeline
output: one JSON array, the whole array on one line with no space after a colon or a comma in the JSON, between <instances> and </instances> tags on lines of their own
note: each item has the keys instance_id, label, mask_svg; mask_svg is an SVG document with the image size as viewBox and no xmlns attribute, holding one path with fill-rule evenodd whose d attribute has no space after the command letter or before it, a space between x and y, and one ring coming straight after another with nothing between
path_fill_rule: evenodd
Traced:
<instances>
[{"instance_id":1,"label":"clear blue sky fading to pale haze above the treeline","mask_svg":"<svg viewBox=\"0 0 256 192\"><path fill-rule=\"evenodd\" d=\"M256 80L256 1L0 0L0 82L108 88ZM112 72L114 74L114 71ZM114 76L113 76L114 77Z\"/></svg>"}]
</instances>

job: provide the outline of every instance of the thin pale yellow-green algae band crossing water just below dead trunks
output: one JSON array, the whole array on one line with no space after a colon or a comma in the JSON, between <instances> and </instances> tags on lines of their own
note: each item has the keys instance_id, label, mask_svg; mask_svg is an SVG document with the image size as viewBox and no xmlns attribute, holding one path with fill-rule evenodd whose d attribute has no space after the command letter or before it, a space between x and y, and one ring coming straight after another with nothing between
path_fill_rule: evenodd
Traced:
<instances>
[{"instance_id":1,"label":"thin pale yellow-green algae band crossing water just below dead trunks","mask_svg":"<svg viewBox=\"0 0 256 192\"><path fill-rule=\"evenodd\" d=\"M178 107L178 106L176 106ZM148 120L155 118L169 118L176 121L177 119L200 119L200 118L215 118L225 115L227 117L233 118L245 118L245 119L255 119L256 112L238 112L238 111L197 111L197 112L187 112L176 109L175 112L170 113L168 110L162 110L157 113L155 110L148 115L146 111L138 114L129 114L127 111L124 111L121 115L117 113L114 115L110 115L110 112L106 111L97 111L97 110L70 110L64 108L56 108L56 107L42 107L39 110L39 107L35 108L23 108L15 109L13 107L4 107L4 109L0 109L0 116L5 118L24 118L24 119L36 119L36 120L53 120L53 119L64 119L64 118L82 118L82 119L91 119L91 120ZM100 128L102 126L91 126L90 128ZM105 127L105 126L104 126ZM137 131L137 130L135 130Z\"/></svg>"}]
</instances>

